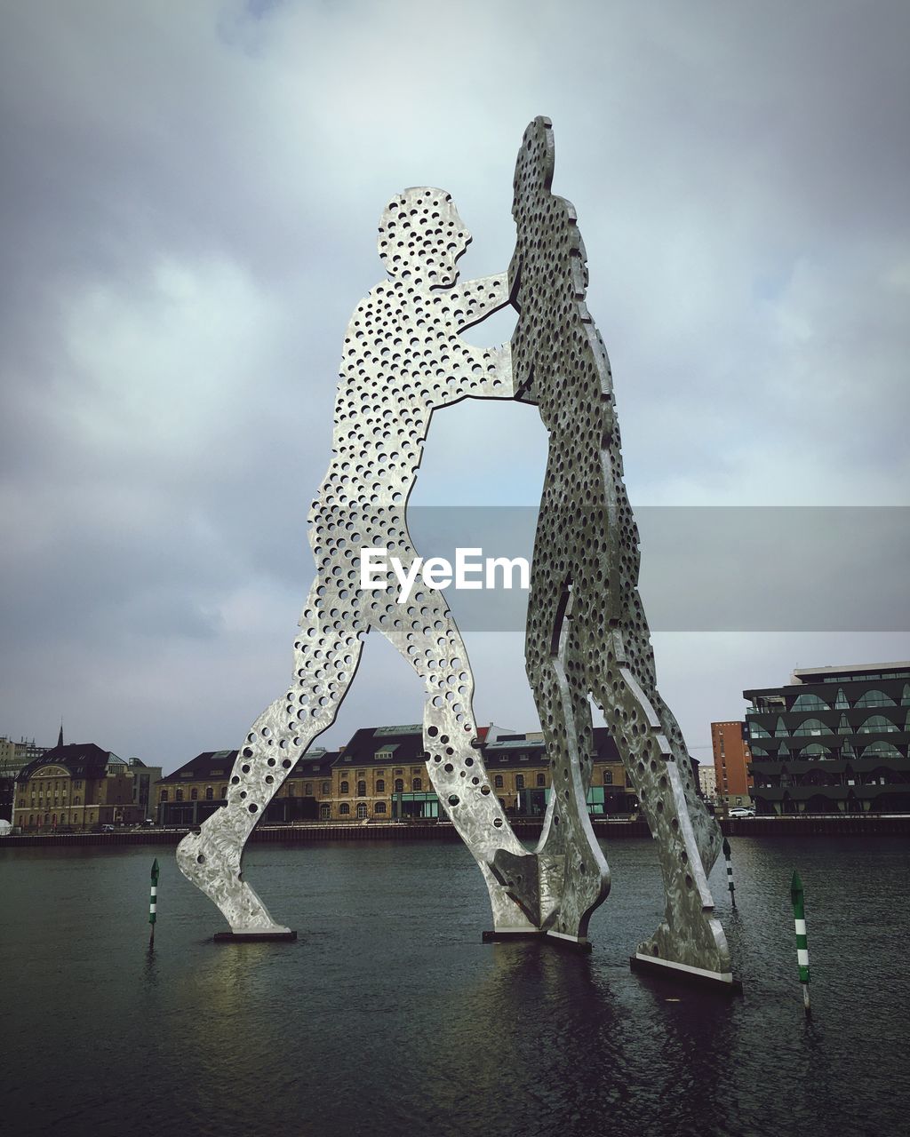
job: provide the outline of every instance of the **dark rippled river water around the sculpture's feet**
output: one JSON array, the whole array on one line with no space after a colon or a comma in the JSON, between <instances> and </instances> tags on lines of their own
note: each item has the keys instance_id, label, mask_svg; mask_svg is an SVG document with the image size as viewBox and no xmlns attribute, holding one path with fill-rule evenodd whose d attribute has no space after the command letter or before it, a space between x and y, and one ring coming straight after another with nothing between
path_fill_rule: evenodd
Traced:
<instances>
[{"instance_id":1,"label":"dark rippled river water around the sculpture's feet","mask_svg":"<svg viewBox=\"0 0 910 1137\"><path fill-rule=\"evenodd\" d=\"M255 845L246 879L299 939L243 946L212 943L169 849L0 845L0 1115L17 1137L908 1131L905 839L736 840L735 912L722 862L711 878L731 1002L630 973L660 875L647 840L606 852L579 956L482 944L458 845Z\"/></svg>"}]
</instances>

